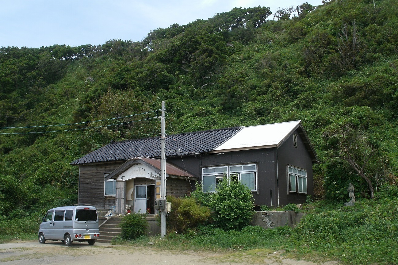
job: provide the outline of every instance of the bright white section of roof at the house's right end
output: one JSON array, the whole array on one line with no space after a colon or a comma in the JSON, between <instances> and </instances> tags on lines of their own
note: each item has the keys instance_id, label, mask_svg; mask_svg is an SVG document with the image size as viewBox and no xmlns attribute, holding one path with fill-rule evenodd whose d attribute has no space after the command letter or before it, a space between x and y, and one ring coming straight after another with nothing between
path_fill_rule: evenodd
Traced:
<instances>
[{"instance_id":1,"label":"bright white section of roof at the house's right end","mask_svg":"<svg viewBox=\"0 0 398 265\"><path fill-rule=\"evenodd\" d=\"M214 151L233 151L279 146L300 125L300 121L243 127Z\"/></svg>"}]
</instances>

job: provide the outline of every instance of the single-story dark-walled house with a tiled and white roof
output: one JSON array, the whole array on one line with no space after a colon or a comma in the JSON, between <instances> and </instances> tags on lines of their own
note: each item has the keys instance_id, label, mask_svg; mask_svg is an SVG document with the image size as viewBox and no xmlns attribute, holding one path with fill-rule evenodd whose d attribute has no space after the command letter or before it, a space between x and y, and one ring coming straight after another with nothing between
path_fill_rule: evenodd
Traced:
<instances>
[{"instance_id":1,"label":"single-story dark-walled house with a tiled and white roof","mask_svg":"<svg viewBox=\"0 0 398 265\"><path fill-rule=\"evenodd\" d=\"M304 203L313 195L316 152L300 121L166 136L166 196L189 195L195 182L215 192L239 179L256 205ZM154 213L160 198L160 137L111 142L71 164L79 167L78 204L118 213Z\"/></svg>"}]
</instances>

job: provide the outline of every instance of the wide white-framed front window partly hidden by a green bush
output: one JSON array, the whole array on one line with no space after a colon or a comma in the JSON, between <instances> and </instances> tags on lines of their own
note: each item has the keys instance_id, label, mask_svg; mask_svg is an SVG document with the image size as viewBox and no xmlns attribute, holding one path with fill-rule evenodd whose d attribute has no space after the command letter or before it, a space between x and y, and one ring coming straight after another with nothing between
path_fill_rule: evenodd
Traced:
<instances>
[{"instance_id":1,"label":"wide white-framed front window partly hidden by a green bush","mask_svg":"<svg viewBox=\"0 0 398 265\"><path fill-rule=\"evenodd\" d=\"M202 168L203 192L215 192L223 179L238 179L251 191L257 191L257 165L232 165Z\"/></svg>"}]
</instances>

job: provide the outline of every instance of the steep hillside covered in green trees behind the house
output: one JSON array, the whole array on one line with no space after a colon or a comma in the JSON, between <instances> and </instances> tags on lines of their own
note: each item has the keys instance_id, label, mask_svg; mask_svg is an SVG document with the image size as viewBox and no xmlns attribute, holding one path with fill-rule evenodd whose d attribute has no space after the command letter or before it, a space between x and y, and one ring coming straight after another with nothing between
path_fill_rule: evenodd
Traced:
<instances>
[{"instance_id":1,"label":"steep hillside covered in green trees behind the house","mask_svg":"<svg viewBox=\"0 0 398 265\"><path fill-rule=\"evenodd\" d=\"M157 136L161 101L168 134L301 120L316 197L347 201L352 182L370 199L397 184L397 49L396 0L234 8L139 42L2 47L0 221L76 203L69 163Z\"/></svg>"}]
</instances>

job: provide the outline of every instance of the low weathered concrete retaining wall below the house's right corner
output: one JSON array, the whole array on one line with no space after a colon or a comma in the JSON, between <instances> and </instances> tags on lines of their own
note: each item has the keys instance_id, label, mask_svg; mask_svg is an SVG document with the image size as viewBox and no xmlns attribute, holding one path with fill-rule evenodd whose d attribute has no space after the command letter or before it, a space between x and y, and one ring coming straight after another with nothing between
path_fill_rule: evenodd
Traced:
<instances>
[{"instance_id":1,"label":"low weathered concrete retaining wall below the house's right corner","mask_svg":"<svg viewBox=\"0 0 398 265\"><path fill-rule=\"evenodd\" d=\"M286 225L295 227L304 215L305 213L295 213L294 211L255 212L250 225L261 226L264 229Z\"/></svg>"}]
</instances>

